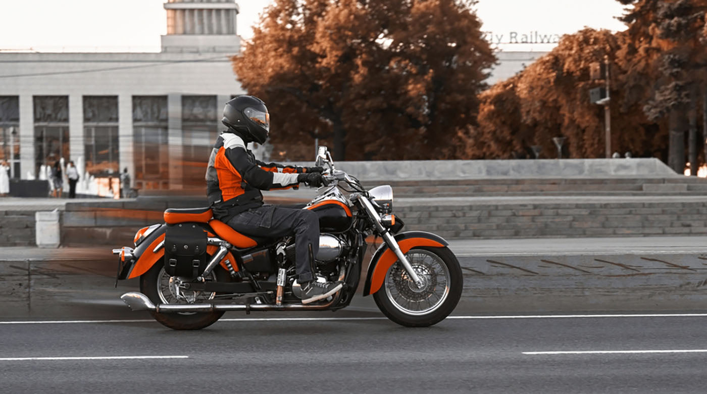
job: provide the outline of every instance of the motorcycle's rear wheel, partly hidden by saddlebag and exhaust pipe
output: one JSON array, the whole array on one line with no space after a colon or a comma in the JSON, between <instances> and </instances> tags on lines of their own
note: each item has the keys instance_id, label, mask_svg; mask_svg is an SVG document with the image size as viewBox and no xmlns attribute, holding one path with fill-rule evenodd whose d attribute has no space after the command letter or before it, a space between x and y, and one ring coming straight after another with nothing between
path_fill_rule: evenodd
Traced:
<instances>
[{"instance_id":1,"label":"motorcycle's rear wheel, partly hidden by saddlebag and exhaust pipe","mask_svg":"<svg viewBox=\"0 0 707 394\"><path fill-rule=\"evenodd\" d=\"M226 270L217 266L206 278L207 281L230 282L230 276ZM140 277L140 291L145 294L155 305L160 303L204 303L214 299L216 293L205 291L184 291L179 296L175 293L174 277L170 277L165 272L163 260L153 265L153 267ZM178 313L157 313L150 311L152 317L161 324L173 330L201 330L216 323L216 320L223 316L223 311L213 312L178 312Z\"/></svg>"}]
</instances>

